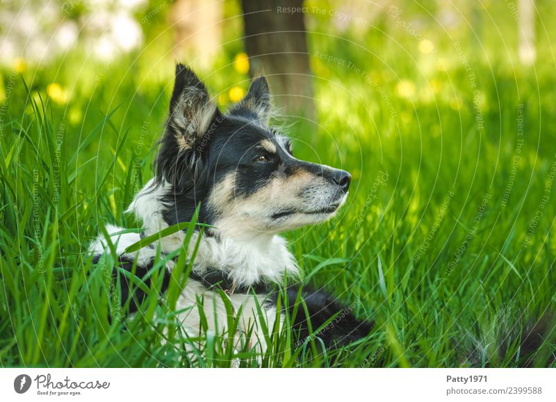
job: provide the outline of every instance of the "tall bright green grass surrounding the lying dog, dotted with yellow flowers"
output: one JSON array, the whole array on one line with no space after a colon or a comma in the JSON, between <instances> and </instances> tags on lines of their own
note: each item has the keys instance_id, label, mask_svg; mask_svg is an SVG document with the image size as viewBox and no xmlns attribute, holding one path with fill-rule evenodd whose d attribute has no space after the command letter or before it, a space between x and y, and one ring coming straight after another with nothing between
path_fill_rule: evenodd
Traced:
<instances>
[{"instance_id":1,"label":"tall bright green grass surrounding the lying dog, dotted with yellow flowers","mask_svg":"<svg viewBox=\"0 0 556 402\"><path fill-rule=\"evenodd\" d=\"M523 330L546 317L552 328L555 311L553 33L539 35L543 62L534 68L512 61L511 40L500 50L508 26L488 25L502 33L482 33L484 51L477 37L432 28L423 37L435 38L436 53L424 54L402 26L379 21L361 38L325 35L324 24L317 19L310 35L318 124L290 131L298 157L354 180L339 217L286 237L305 278L375 320L369 339L321 353L318 337L297 347L286 325L267 329L263 357L247 343L234 351L225 334L202 334L199 346L176 326L177 287L158 301L160 266L142 314L122 320L126 305L107 279L115 257L92 265L86 249L108 222L138 230L124 210L152 175L172 73L162 56L145 67L147 47L148 57L103 74L88 66L74 84L78 56L60 61L60 72L3 72L13 86L0 135L3 367L518 365ZM239 39L229 42L206 72L224 107L230 87L248 85L230 62L240 49ZM46 96L53 81L70 101ZM556 334L546 335L534 365L554 367ZM183 353L186 344L193 353Z\"/></svg>"}]
</instances>

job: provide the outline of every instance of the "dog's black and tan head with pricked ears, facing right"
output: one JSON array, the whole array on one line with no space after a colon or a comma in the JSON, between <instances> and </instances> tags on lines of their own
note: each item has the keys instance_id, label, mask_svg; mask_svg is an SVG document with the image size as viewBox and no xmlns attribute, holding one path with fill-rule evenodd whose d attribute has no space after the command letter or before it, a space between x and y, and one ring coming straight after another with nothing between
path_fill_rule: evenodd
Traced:
<instances>
[{"instance_id":1,"label":"dog's black and tan head with pricked ears, facing right","mask_svg":"<svg viewBox=\"0 0 556 402\"><path fill-rule=\"evenodd\" d=\"M334 216L350 174L295 158L290 140L268 126L269 112L265 78L222 113L199 78L177 65L156 160L156 178L170 188L168 224L188 221L199 202L199 219L232 235L279 233Z\"/></svg>"}]
</instances>

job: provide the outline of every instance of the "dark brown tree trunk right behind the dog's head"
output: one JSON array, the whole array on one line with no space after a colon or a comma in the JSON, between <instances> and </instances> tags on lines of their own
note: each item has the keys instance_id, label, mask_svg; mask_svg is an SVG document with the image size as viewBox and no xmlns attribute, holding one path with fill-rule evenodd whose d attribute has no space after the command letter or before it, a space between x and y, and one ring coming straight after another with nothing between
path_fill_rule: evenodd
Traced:
<instances>
[{"instance_id":1,"label":"dark brown tree trunk right behind the dog's head","mask_svg":"<svg viewBox=\"0 0 556 402\"><path fill-rule=\"evenodd\" d=\"M313 85L302 0L242 0L250 74L268 78L273 100L288 115L313 119ZM284 12L295 8L299 12Z\"/></svg>"}]
</instances>

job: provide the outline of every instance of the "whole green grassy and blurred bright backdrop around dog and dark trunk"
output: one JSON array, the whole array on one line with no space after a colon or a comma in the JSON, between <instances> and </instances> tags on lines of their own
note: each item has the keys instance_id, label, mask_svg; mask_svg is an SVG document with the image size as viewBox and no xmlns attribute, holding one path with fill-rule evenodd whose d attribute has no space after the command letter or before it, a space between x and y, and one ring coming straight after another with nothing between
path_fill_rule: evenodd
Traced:
<instances>
[{"instance_id":1,"label":"whole green grassy and blurred bright backdrop around dog and dark trunk","mask_svg":"<svg viewBox=\"0 0 556 402\"><path fill-rule=\"evenodd\" d=\"M56 332L60 317L42 312L42 302L40 308L28 303L31 317L48 317L39 320L46 328L39 337L36 322L10 311L29 294L22 266L36 292L56 294L60 305L72 284L64 276L63 287L47 287L33 274L40 243L35 209L41 233L64 217L58 233L41 240L56 244L49 251L53 278L83 265L77 256L99 221L137 226L123 211L152 176L175 62L191 65L222 109L249 87L240 3L181 6L170 0L2 4L3 283L10 276L0 294L3 364L158 365L158 358L178 364L162 349L133 360L126 343L111 345L118 353L101 352L98 333L85 342L96 358L81 346L71 358L49 348L38 353L31 345L47 344L49 336L50 344L72 342ZM535 364L553 365L554 331L546 324L556 283L553 2L306 1L304 7L316 119L286 104L279 122L298 158L342 167L354 181L341 216L286 236L304 274L356 303L357 315L377 325L361 353L291 364L512 366L524 328L540 326L546 342ZM190 13L189 31L178 29L183 12ZM52 146L62 147L66 166L64 194L54 203L44 201L56 199L45 136L60 138ZM33 208L31 182L42 190L26 214L26 205ZM92 296L83 292L74 308L85 314ZM65 317L76 336L79 319ZM282 358L266 364L283 365Z\"/></svg>"}]
</instances>

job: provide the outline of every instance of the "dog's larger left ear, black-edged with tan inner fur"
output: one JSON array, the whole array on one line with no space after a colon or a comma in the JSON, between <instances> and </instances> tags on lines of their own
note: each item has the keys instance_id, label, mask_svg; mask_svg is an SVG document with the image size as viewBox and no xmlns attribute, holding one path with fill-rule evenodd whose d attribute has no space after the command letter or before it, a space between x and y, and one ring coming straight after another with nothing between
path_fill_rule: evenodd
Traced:
<instances>
[{"instance_id":1,"label":"dog's larger left ear, black-edged with tan inner fur","mask_svg":"<svg viewBox=\"0 0 556 402\"><path fill-rule=\"evenodd\" d=\"M193 149L217 115L204 84L189 67L176 66L176 82L170 100L168 130L180 150Z\"/></svg>"}]
</instances>

